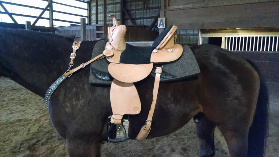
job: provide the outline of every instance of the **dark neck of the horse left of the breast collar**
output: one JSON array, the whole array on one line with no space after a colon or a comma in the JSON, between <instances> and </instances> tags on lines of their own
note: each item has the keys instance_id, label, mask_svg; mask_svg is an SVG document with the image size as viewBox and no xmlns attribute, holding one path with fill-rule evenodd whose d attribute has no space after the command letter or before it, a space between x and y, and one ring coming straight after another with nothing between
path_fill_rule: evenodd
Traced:
<instances>
[{"instance_id":1,"label":"dark neck of the horse left of the breast collar","mask_svg":"<svg viewBox=\"0 0 279 157\"><path fill-rule=\"evenodd\" d=\"M25 30L1 29L0 33L1 74L44 97L67 70L73 40Z\"/></svg>"}]
</instances>

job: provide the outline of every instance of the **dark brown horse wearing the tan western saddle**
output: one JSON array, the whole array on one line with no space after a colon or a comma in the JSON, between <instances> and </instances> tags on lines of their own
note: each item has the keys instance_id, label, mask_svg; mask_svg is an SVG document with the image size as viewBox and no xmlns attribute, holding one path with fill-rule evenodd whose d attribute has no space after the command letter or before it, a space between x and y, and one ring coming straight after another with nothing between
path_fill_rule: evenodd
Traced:
<instances>
[{"instance_id":1,"label":"dark brown horse wearing the tan western saddle","mask_svg":"<svg viewBox=\"0 0 279 157\"><path fill-rule=\"evenodd\" d=\"M72 38L26 30L0 29L1 74L44 97L69 65ZM75 65L91 59L96 41L83 41ZM161 83L152 129L147 138L181 128L197 113L200 156L214 156L216 126L231 156L263 156L268 99L261 77L245 59L213 45L191 48L201 73L194 80ZM100 52L101 53L101 52ZM183 67L181 67L183 68ZM112 114L110 87L90 86L90 66L67 78L49 103L52 124L67 141L72 156L100 156L100 141ZM146 120L154 79L137 82L141 113L130 116L128 135L135 138ZM186 139L185 139L186 140Z\"/></svg>"}]
</instances>

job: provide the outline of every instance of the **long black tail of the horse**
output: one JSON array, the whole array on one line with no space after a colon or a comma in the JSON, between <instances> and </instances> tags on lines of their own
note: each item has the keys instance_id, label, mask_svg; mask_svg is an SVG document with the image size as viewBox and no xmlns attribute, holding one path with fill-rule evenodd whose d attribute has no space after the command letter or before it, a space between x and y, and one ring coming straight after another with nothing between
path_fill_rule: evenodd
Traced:
<instances>
[{"instance_id":1,"label":"long black tail of the horse","mask_svg":"<svg viewBox=\"0 0 279 157\"><path fill-rule=\"evenodd\" d=\"M248 153L247 156L262 157L266 148L266 137L268 133L268 111L269 101L266 83L258 69L258 67L250 60L247 60L260 77L260 91L258 102L252 125L248 135Z\"/></svg>"}]
</instances>

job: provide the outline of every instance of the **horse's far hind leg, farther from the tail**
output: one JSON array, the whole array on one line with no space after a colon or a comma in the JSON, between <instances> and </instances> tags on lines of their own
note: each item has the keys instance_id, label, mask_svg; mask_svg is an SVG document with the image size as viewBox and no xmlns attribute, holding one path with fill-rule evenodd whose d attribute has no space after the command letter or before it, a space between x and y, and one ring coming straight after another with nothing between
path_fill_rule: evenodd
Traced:
<instances>
[{"instance_id":1,"label":"horse's far hind leg, farther from the tail","mask_svg":"<svg viewBox=\"0 0 279 157\"><path fill-rule=\"evenodd\" d=\"M196 123L196 137L199 145L199 156L212 157L215 155L214 130L216 125L202 117Z\"/></svg>"}]
</instances>

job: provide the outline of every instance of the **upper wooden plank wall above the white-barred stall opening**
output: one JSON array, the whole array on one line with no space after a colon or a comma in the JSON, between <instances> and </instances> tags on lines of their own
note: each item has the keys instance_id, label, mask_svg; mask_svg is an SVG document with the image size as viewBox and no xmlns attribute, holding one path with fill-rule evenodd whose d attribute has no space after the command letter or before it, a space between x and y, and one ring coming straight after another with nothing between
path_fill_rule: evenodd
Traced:
<instances>
[{"instance_id":1,"label":"upper wooden plank wall above the white-barred stall opening","mask_svg":"<svg viewBox=\"0 0 279 157\"><path fill-rule=\"evenodd\" d=\"M279 27L279 1L164 0L160 17L178 29ZM164 6L162 6L164 5Z\"/></svg>"}]
</instances>

